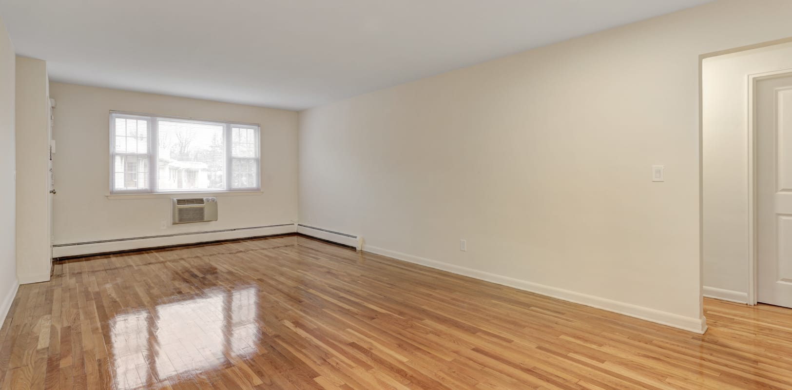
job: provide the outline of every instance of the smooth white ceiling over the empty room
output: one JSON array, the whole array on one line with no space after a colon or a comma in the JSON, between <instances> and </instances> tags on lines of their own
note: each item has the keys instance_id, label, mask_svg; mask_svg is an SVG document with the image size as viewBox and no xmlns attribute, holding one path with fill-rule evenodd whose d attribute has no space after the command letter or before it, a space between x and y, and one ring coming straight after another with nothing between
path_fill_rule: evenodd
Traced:
<instances>
[{"instance_id":1,"label":"smooth white ceiling over the empty room","mask_svg":"<svg viewBox=\"0 0 792 390\"><path fill-rule=\"evenodd\" d=\"M306 109L708 0L0 0L50 78Z\"/></svg>"}]
</instances>

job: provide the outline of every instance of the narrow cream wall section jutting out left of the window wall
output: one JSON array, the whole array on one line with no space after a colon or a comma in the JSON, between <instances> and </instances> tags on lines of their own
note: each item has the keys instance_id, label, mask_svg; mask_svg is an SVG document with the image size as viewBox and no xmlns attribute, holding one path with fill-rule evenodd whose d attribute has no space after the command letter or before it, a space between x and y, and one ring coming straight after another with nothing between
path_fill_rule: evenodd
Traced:
<instances>
[{"instance_id":1,"label":"narrow cream wall section jutting out left of the window wall","mask_svg":"<svg viewBox=\"0 0 792 390\"><path fill-rule=\"evenodd\" d=\"M22 284L50 278L48 89L47 63L17 57L17 275Z\"/></svg>"}]
</instances>

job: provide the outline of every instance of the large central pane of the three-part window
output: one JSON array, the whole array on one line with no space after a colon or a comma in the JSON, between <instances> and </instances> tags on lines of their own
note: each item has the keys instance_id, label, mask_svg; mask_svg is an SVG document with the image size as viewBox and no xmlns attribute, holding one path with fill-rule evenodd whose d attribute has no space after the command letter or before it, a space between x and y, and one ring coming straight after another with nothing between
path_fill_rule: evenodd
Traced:
<instances>
[{"instance_id":1,"label":"large central pane of the three-part window","mask_svg":"<svg viewBox=\"0 0 792 390\"><path fill-rule=\"evenodd\" d=\"M159 191L223 189L223 124L158 120Z\"/></svg>"}]
</instances>

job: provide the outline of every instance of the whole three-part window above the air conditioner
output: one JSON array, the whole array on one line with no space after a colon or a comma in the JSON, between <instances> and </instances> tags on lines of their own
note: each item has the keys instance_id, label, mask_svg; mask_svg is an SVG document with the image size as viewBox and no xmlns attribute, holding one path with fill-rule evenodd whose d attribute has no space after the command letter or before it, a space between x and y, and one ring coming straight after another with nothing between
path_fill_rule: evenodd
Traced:
<instances>
[{"instance_id":1,"label":"whole three-part window above the air conditioner","mask_svg":"<svg viewBox=\"0 0 792 390\"><path fill-rule=\"evenodd\" d=\"M110 192L258 190L259 127L110 113Z\"/></svg>"}]
</instances>

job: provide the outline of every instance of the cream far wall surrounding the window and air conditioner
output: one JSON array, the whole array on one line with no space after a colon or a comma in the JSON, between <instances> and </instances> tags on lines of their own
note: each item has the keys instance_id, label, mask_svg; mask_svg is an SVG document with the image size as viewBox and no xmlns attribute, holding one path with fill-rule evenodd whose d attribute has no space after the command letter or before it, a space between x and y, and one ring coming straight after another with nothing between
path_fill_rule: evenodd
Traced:
<instances>
[{"instance_id":1,"label":"cream far wall surrounding the window and air conditioner","mask_svg":"<svg viewBox=\"0 0 792 390\"><path fill-rule=\"evenodd\" d=\"M297 219L297 113L51 83L55 244L291 224ZM219 219L171 224L171 195L109 198L110 110L261 124L261 193L219 195ZM161 221L166 221L162 229Z\"/></svg>"}]
</instances>

